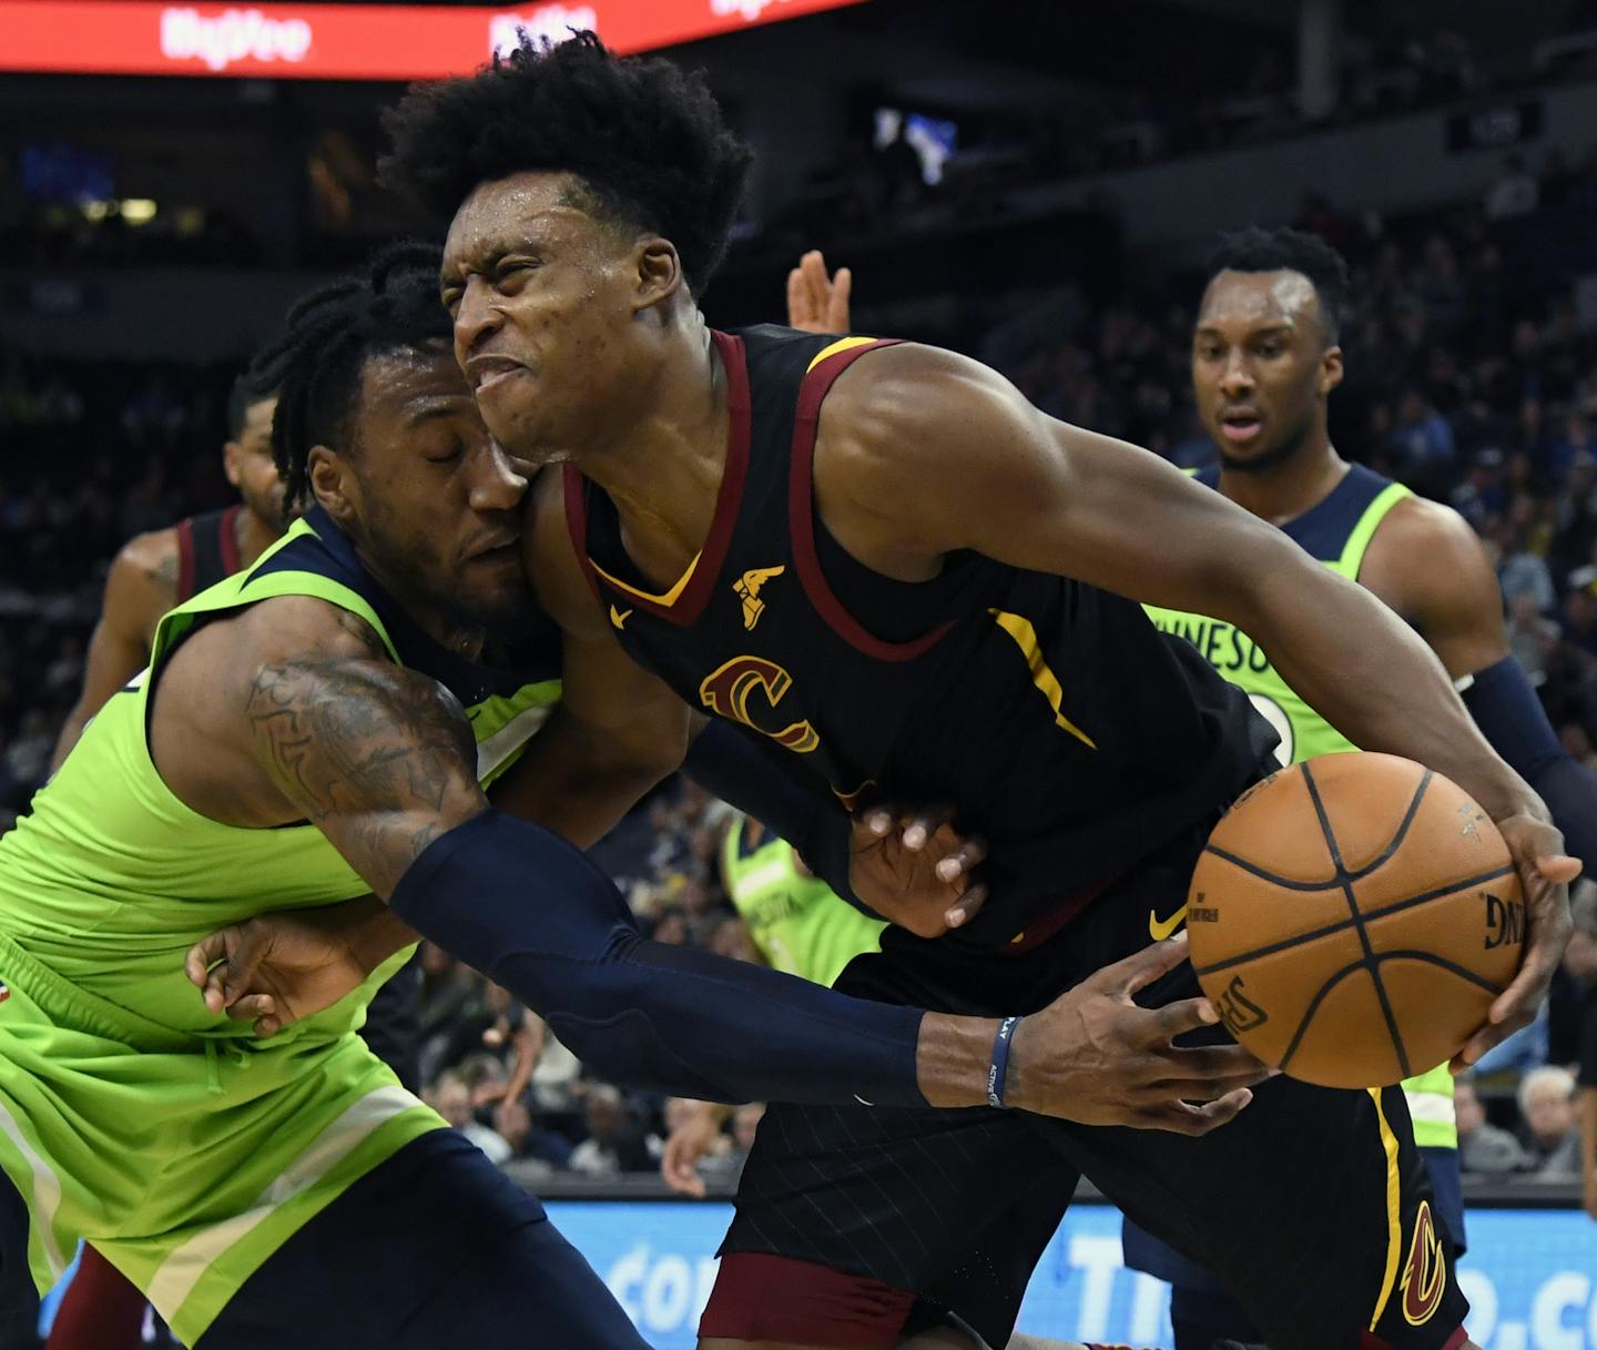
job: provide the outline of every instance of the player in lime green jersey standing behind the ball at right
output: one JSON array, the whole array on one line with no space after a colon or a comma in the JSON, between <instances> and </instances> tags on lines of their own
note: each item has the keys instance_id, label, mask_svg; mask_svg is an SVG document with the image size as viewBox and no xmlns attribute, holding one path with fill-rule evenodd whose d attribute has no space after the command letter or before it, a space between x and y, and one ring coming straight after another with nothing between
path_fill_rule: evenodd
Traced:
<instances>
[{"instance_id":1,"label":"player in lime green jersey standing behind the ball at right","mask_svg":"<svg viewBox=\"0 0 1597 1350\"><path fill-rule=\"evenodd\" d=\"M1509 655L1503 596L1476 532L1456 511L1349 463L1330 444L1327 399L1341 382L1346 289L1346 264L1314 235L1250 228L1223 240L1209 264L1191 363L1193 396L1220 463L1198 478L1401 613L1440 658L1492 746L1547 802L1570 852L1597 856L1597 776L1562 749ZM1246 633L1196 613L1148 613L1249 693L1281 733L1282 762L1354 749ZM1404 1091L1437 1206L1463 1249L1448 1066L1409 1078ZM1220 1334L1257 1339L1204 1272L1129 1225L1126 1259L1175 1286L1180 1350Z\"/></svg>"}]
</instances>

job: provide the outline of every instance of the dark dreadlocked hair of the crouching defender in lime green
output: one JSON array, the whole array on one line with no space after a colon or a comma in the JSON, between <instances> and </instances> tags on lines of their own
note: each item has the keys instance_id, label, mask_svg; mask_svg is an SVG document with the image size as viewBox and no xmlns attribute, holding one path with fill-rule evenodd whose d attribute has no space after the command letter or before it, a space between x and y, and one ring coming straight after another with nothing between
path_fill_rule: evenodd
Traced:
<instances>
[{"instance_id":1,"label":"dark dreadlocked hair of the crouching defender in lime green","mask_svg":"<svg viewBox=\"0 0 1597 1350\"><path fill-rule=\"evenodd\" d=\"M271 457L287 487L286 511L310 497L307 470L315 446L356 449L351 422L366 363L450 340L449 315L438 299L438 267L439 252L431 244L390 244L364 272L295 302L278 336L256 355L246 380L278 391Z\"/></svg>"}]
</instances>

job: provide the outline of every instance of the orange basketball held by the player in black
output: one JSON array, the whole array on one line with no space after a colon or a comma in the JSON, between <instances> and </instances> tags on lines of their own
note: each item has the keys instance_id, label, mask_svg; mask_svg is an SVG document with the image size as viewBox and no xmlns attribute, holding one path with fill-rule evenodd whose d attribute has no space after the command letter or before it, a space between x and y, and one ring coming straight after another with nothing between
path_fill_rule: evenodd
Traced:
<instances>
[{"instance_id":1,"label":"orange basketball held by the player in black","mask_svg":"<svg viewBox=\"0 0 1597 1350\"><path fill-rule=\"evenodd\" d=\"M1389 754L1273 773L1215 826L1187 928L1204 994L1263 1062L1332 1088L1450 1059L1519 970L1508 845L1455 783Z\"/></svg>"}]
</instances>

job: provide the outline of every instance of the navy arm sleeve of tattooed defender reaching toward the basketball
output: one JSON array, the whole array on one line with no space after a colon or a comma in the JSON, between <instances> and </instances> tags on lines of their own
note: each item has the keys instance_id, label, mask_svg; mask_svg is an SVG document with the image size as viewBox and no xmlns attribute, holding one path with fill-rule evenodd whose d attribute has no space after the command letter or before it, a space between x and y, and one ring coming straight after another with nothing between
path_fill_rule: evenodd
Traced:
<instances>
[{"instance_id":1,"label":"navy arm sleeve of tattooed defender reaching toward the basketball","mask_svg":"<svg viewBox=\"0 0 1597 1350\"><path fill-rule=\"evenodd\" d=\"M645 941L610 879L535 824L490 810L457 826L390 906L618 1082L706 1101L926 1104L918 1008Z\"/></svg>"}]
</instances>

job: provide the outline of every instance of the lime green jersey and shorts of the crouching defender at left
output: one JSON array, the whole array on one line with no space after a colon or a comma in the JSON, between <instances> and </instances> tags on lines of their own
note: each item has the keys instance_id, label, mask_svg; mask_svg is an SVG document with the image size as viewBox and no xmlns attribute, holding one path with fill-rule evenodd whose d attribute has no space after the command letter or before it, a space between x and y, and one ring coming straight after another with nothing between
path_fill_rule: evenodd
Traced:
<instances>
[{"instance_id":1,"label":"lime green jersey and shorts of the crouching defender at left","mask_svg":"<svg viewBox=\"0 0 1597 1350\"><path fill-rule=\"evenodd\" d=\"M321 511L168 613L150 669L204 617L284 594L358 613L396 661L449 687L484 781L559 700L553 629L509 671L446 652ZM88 1238L193 1344L302 1224L442 1120L355 1035L409 952L268 1040L206 1011L184 975L195 941L367 887L310 824L240 829L172 796L149 752L149 698L145 673L0 837L0 1168L29 1205L40 1288Z\"/></svg>"}]
</instances>

